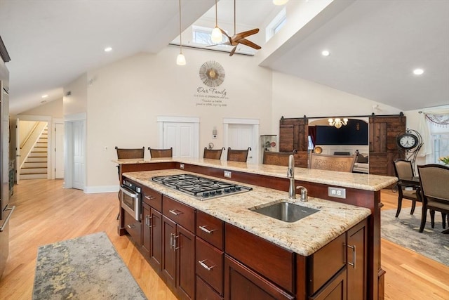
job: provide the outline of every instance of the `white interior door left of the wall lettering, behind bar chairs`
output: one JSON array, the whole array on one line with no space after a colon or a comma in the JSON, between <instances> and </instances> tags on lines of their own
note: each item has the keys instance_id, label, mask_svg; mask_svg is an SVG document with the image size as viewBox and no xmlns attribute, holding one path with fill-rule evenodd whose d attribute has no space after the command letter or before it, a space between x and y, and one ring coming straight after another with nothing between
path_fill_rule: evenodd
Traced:
<instances>
[{"instance_id":1,"label":"white interior door left of the wall lettering, behind bar chairs","mask_svg":"<svg viewBox=\"0 0 449 300\"><path fill-rule=\"evenodd\" d=\"M194 129L193 123L164 122L163 148L173 147L173 157L195 157Z\"/></svg>"}]
</instances>

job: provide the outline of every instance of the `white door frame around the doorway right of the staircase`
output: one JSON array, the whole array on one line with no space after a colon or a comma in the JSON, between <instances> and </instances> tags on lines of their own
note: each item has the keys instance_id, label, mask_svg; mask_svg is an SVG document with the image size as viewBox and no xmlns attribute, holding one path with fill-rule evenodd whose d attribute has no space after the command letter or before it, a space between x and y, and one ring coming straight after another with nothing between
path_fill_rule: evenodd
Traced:
<instances>
[{"instance_id":1,"label":"white door frame around the doorway right of the staircase","mask_svg":"<svg viewBox=\"0 0 449 300\"><path fill-rule=\"evenodd\" d=\"M64 165L64 188L73 188L73 131L72 126L74 122L83 122L84 126L84 134L83 138L84 141L86 141L86 112L81 112L79 114L73 114L73 115L66 115L64 116L64 136L65 136L65 143L64 147L66 149L65 151L65 165ZM86 147L86 143L84 143L84 147ZM86 153L86 149L84 149L84 153ZM84 165L86 166L86 156L84 157ZM83 191L86 189L86 170L87 166L84 168L84 174L83 176Z\"/></svg>"}]
</instances>

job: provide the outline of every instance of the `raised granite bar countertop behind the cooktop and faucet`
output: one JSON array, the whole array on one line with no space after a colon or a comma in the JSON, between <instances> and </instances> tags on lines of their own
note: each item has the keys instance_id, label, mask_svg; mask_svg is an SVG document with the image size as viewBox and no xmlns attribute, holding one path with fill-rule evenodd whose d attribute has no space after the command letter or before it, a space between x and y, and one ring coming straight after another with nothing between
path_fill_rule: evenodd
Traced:
<instances>
[{"instance_id":1,"label":"raised granite bar countertop behind the cooktop and faucet","mask_svg":"<svg viewBox=\"0 0 449 300\"><path fill-rule=\"evenodd\" d=\"M218 159L182 159L182 158L159 158L159 159L118 159L116 164L144 164L156 162L180 162L184 164L195 164L203 167L227 169L229 171L242 171L250 174L267 175L286 178L287 167L273 166L270 164L247 164L246 162L227 162ZM382 190L396 183L398 179L392 176L380 176L370 174L357 174L337 171L323 171L316 169L295 168L295 179L326 185L339 185L345 188L356 188L358 190Z\"/></svg>"}]
</instances>

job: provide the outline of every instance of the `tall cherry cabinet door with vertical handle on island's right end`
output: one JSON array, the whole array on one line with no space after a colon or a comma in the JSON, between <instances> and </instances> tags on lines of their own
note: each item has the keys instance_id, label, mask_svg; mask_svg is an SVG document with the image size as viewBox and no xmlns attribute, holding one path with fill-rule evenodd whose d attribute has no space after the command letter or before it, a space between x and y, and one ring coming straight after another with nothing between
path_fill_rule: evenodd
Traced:
<instances>
[{"instance_id":1,"label":"tall cherry cabinet door with vertical handle on island's right end","mask_svg":"<svg viewBox=\"0 0 449 300\"><path fill-rule=\"evenodd\" d=\"M366 299L366 220L347 232L348 300Z\"/></svg>"}]
</instances>

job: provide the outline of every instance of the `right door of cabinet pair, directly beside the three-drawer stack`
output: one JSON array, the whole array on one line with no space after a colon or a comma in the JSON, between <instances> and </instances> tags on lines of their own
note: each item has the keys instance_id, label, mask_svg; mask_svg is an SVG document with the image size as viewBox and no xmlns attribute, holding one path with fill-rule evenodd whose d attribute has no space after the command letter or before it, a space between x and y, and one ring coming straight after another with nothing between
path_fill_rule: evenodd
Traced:
<instances>
[{"instance_id":1,"label":"right door of cabinet pair, directly beside the three-drawer stack","mask_svg":"<svg viewBox=\"0 0 449 300\"><path fill-rule=\"evenodd\" d=\"M179 224L176 226L176 285L183 299L195 296L195 235Z\"/></svg>"}]
</instances>

